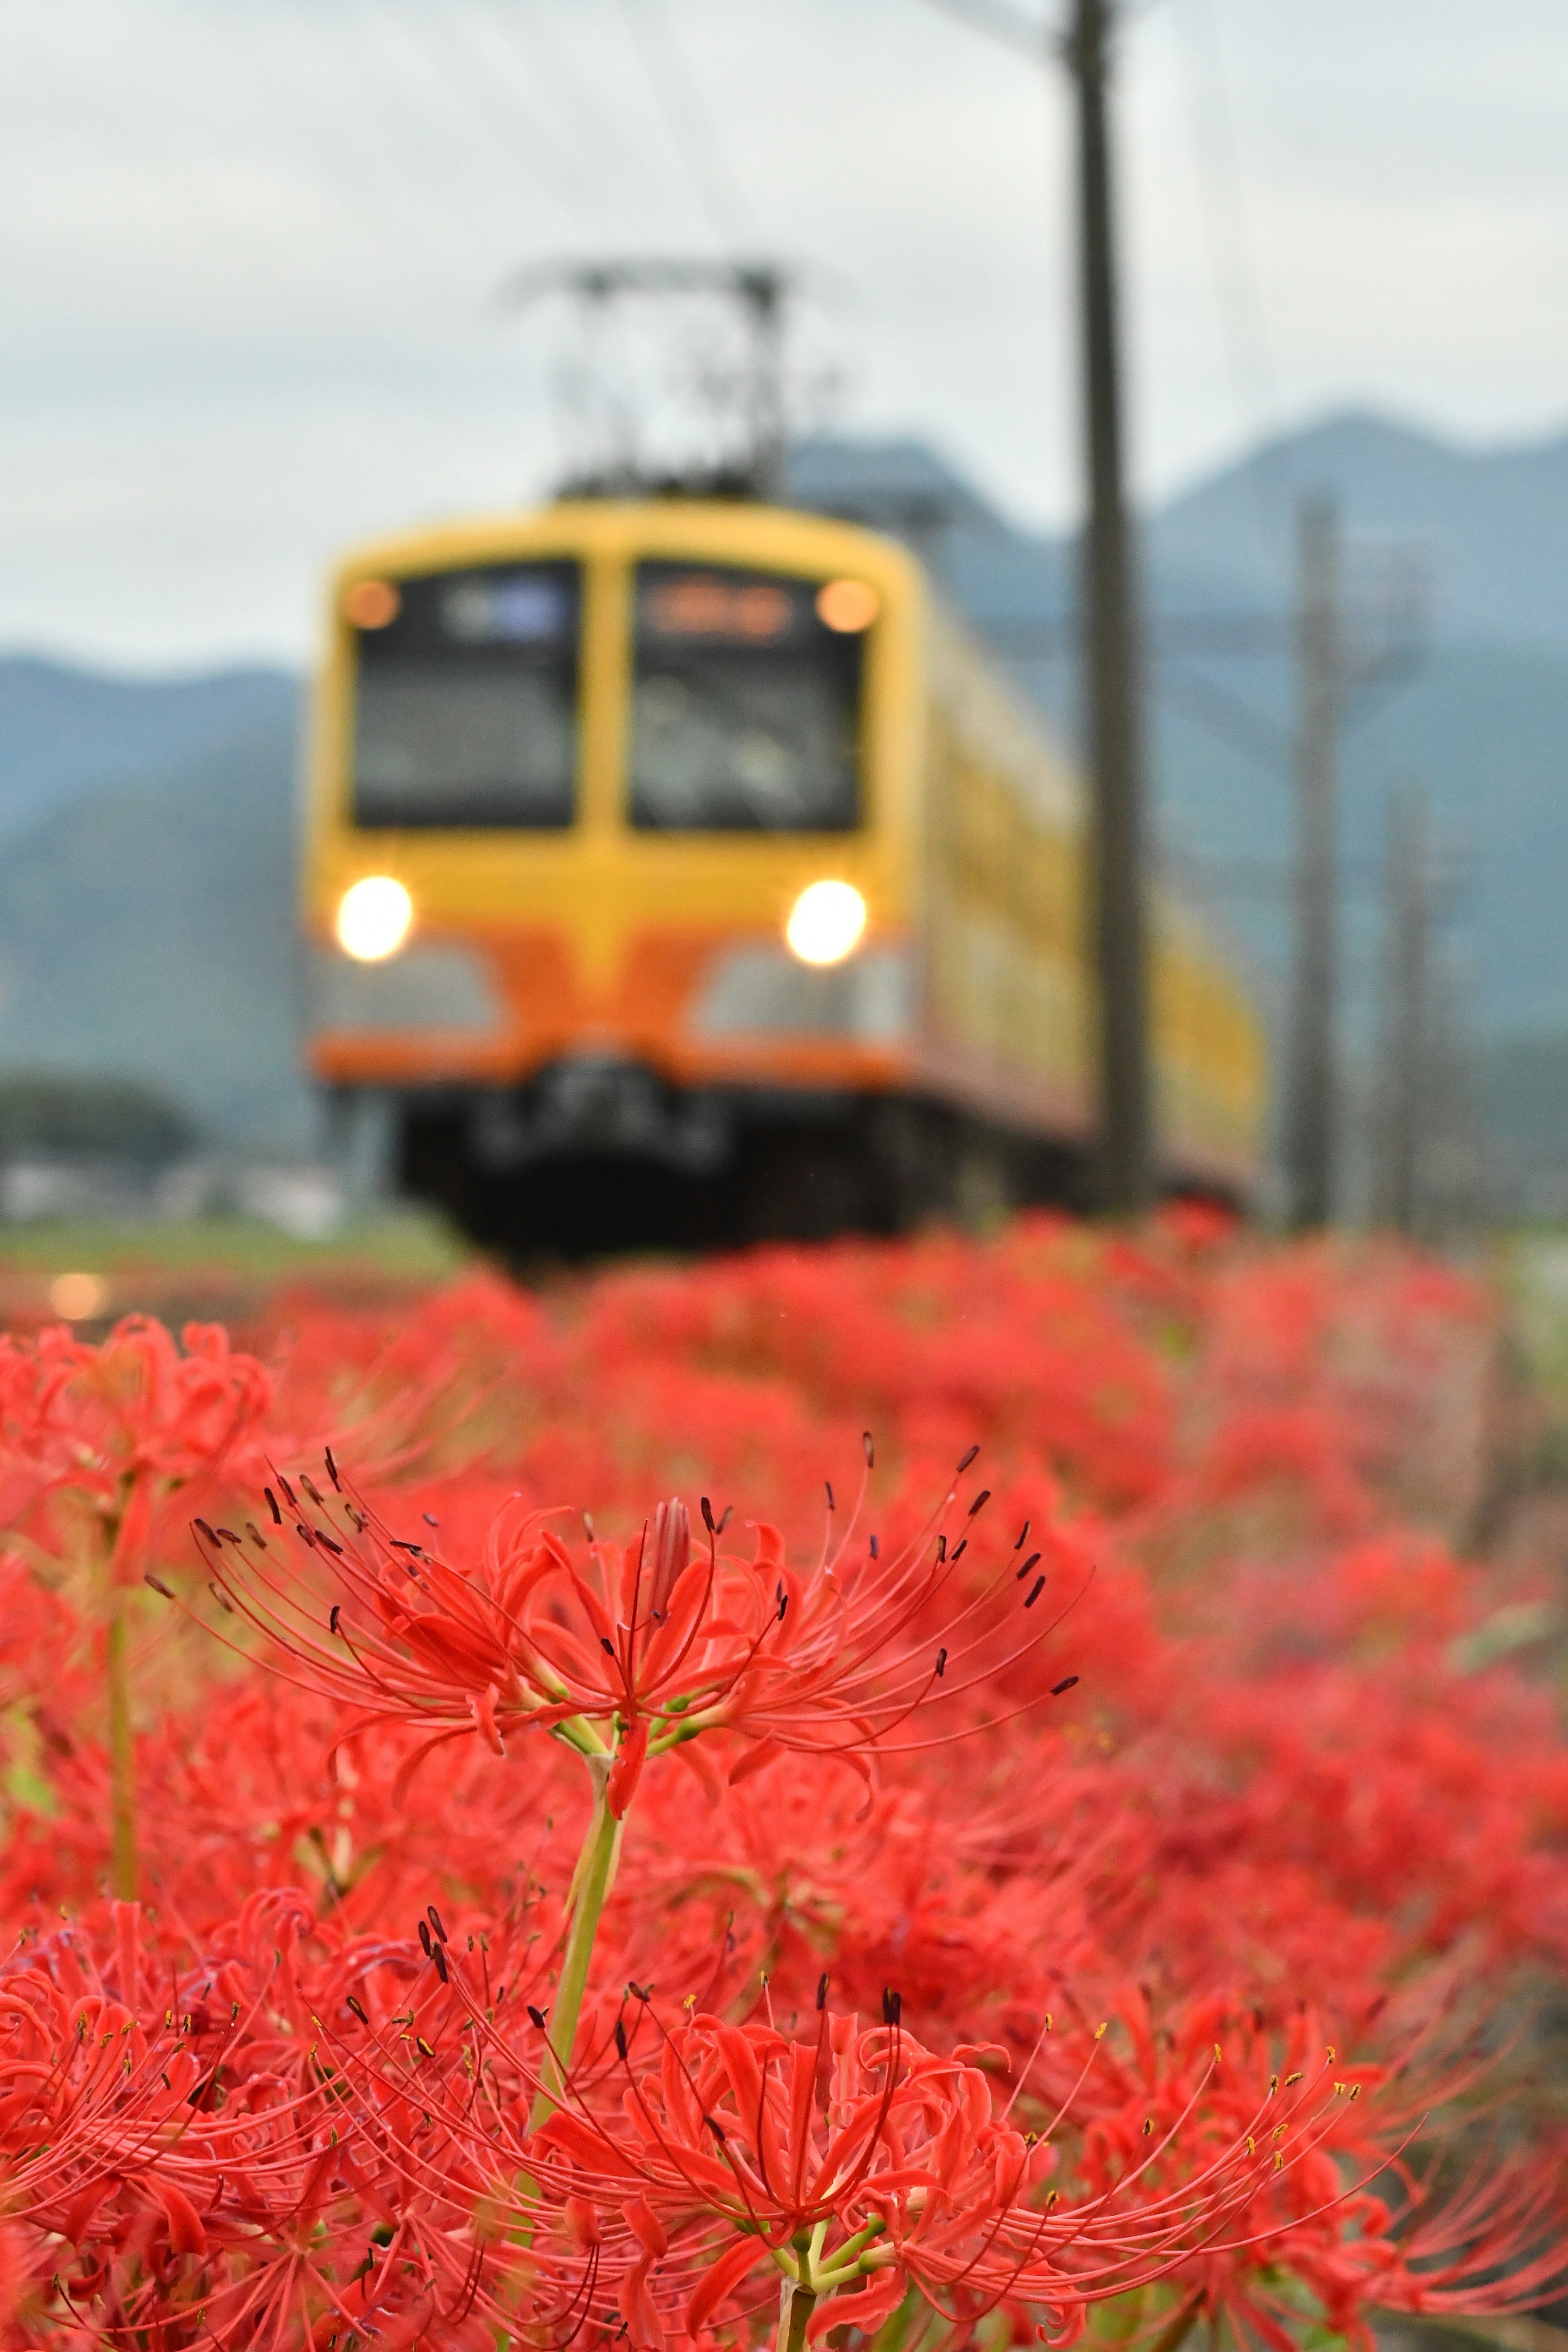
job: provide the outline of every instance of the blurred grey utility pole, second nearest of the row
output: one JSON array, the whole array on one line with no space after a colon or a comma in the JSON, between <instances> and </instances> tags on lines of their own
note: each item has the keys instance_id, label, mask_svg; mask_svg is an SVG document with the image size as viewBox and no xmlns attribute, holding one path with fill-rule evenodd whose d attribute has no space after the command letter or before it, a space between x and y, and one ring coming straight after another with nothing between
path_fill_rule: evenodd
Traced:
<instances>
[{"instance_id":1,"label":"blurred grey utility pole, second nearest of the row","mask_svg":"<svg viewBox=\"0 0 1568 2352\"><path fill-rule=\"evenodd\" d=\"M1335 1178L1338 764L1345 710L1340 515L1298 508L1295 590L1295 1000L1291 1007L1286 1178L1291 1223L1326 1225Z\"/></svg>"}]
</instances>

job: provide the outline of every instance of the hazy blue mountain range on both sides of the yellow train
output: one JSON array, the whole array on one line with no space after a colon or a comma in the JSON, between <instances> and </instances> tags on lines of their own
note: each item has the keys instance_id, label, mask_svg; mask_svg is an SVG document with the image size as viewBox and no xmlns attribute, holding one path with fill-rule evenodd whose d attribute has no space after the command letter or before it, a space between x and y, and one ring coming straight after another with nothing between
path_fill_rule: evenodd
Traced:
<instances>
[{"instance_id":1,"label":"hazy blue mountain range on both sides of the yellow train","mask_svg":"<svg viewBox=\"0 0 1568 2352\"><path fill-rule=\"evenodd\" d=\"M1347 713L1347 1035L1373 1033L1385 826L1392 795L1410 786L1429 795L1443 844L1448 953L1472 1037L1490 1049L1568 1035L1568 435L1460 449L1342 414L1145 517L1161 851L1276 1009L1293 517L1309 492L1340 503L1352 586L1392 543L1425 550L1432 574L1418 659ZM790 496L905 536L1074 734L1065 539L1016 527L912 440L806 442ZM1194 649L1204 616L1232 635L1248 621L1251 640L1269 644ZM219 1136L306 1148L292 943L299 703L284 670L143 680L0 659L0 1073L143 1075ZM1537 1054L1537 1065L1559 1063ZM1519 1098L1519 1084L1493 1096ZM1568 1167L1568 1089L1556 1108L1533 1101L1530 1131L1533 1155Z\"/></svg>"}]
</instances>

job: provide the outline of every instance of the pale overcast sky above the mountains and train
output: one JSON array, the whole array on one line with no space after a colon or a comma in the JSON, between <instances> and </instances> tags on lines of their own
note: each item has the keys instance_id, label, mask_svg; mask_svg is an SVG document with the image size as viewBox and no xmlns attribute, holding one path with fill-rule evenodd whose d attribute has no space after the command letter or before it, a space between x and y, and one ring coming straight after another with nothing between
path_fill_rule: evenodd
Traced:
<instances>
[{"instance_id":1,"label":"pale overcast sky above the mountains and train","mask_svg":"<svg viewBox=\"0 0 1568 2352\"><path fill-rule=\"evenodd\" d=\"M1563 125L1568 0L1140 5L1143 492L1345 402L1561 428ZM839 428L1063 522L1067 129L931 0L7 0L0 644L301 659L339 546L548 485L571 343L494 294L562 252L813 268Z\"/></svg>"}]
</instances>

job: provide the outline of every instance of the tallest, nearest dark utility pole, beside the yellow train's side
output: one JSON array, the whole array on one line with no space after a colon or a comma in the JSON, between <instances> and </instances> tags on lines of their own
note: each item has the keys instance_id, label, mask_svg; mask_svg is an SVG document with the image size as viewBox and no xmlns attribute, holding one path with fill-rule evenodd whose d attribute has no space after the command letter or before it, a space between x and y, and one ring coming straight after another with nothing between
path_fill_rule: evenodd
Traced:
<instances>
[{"instance_id":1,"label":"tallest, nearest dark utility pole, beside the yellow train's side","mask_svg":"<svg viewBox=\"0 0 1568 2352\"><path fill-rule=\"evenodd\" d=\"M1081 555L1098 971L1100 1207L1154 1190L1138 581L1126 513L1107 80L1114 0L1074 0L1063 45L1079 115L1079 292L1088 520Z\"/></svg>"}]
</instances>

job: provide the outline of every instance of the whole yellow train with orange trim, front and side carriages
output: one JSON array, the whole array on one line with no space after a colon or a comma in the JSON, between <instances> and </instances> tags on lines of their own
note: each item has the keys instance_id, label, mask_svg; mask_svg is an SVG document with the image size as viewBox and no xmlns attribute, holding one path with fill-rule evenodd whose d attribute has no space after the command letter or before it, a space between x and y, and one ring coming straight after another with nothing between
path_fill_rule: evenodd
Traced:
<instances>
[{"instance_id":1,"label":"whole yellow train with orange trim, front and side carriages","mask_svg":"<svg viewBox=\"0 0 1568 2352\"><path fill-rule=\"evenodd\" d=\"M574 501L357 548L303 858L308 1056L402 1183L578 1254L1074 1200L1081 788L889 539ZM1154 915L1161 1176L1246 1195L1265 1054Z\"/></svg>"}]
</instances>

